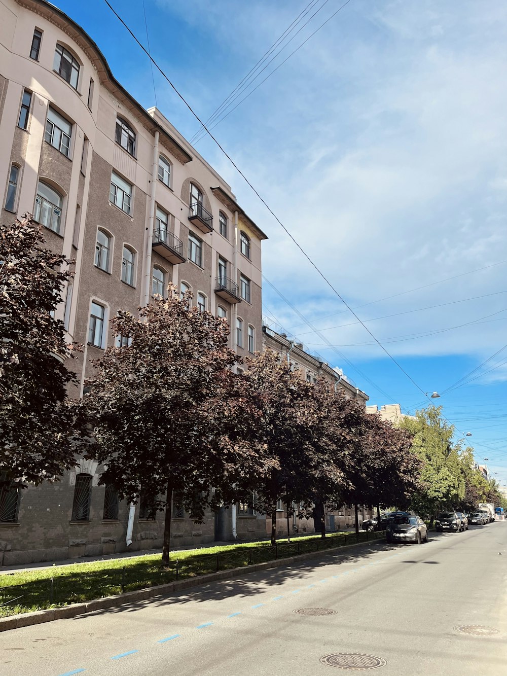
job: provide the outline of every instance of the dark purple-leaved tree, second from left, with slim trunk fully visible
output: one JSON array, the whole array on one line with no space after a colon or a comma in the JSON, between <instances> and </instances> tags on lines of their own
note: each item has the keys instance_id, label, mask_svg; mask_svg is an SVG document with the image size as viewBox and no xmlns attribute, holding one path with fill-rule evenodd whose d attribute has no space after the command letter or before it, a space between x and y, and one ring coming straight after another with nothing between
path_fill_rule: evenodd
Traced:
<instances>
[{"instance_id":1,"label":"dark purple-leaved tree, second from left, with slim trunk fully visible","mask_svg":"<svg viewBox=\"0 0 507 676\"><path fill-rule=\"evenodd\" d=\"M173 492L199 522L206 506L216 508L231 487L249 481L257 457L240 438L255 411L234 385L228 324L190 305L191 294L180 299L170 285L168 298L155 296L139 318L119 312L112 325L124 347L95 362L81 404L95 431L88 454L105 465L101 483L130 502L141 492L165 510L164 565Z\"/></svg>"}]
</instances>

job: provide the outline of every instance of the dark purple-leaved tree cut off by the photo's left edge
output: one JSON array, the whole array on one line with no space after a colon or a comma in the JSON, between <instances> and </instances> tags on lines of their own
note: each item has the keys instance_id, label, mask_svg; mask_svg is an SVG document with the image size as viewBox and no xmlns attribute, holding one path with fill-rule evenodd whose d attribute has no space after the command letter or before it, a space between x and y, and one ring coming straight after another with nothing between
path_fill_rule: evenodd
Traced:
<instances>
[{"instance_id":1,"label":"dark purple-leaved tree cut off by the photo's left edge","mask_svg":"<svg viewBox=\"0 0 507 676\"><path fill-rule=\"evenodd\" d=\"M75 344L54 318L71 261L45 246L30 216L0 228L0 481L55 481L74 465L68 391Z\"/></svg>"}]
</instances>

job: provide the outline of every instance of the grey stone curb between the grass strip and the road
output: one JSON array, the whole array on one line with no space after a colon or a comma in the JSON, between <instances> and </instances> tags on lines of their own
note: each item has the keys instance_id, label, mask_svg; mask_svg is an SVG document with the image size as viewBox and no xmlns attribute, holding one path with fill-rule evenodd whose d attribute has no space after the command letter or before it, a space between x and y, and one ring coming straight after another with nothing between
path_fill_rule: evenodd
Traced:
<instances>
[{"instance_id":1,"label":"grey stone curb between the grass strip and the road","mask_svg":"<svg viewBox=\"0 0 507 676\"><path fill-rule=\"evenodd\" d=\"M61 606L59 608L51 608L50 610L36 610L35 612L22 612L18 615L11 615L11 617L0 618L0 632L9 631L9 629L18 629L19 627L30 627L30 625L39 625L44 622L52 622L53 620L64 620L70 617L87 614L88 612L103 610L105 608L118 608L119 606L128 605L138 601L145 601L151 598L162 598L164 596L170 596L170 594L174 592L180 592L182 589L199 587L200 585L206 585L207 583L216 580L241 577L245 573L257 573L259 571L269 570L270 568L279 568L281 566L286 566L287 564L308 561L312 558L328 556L329 554L339 554L339 552L343 552L343 550L378 544L383 541L382 538L379 538L366 542L357 542L352 545L341 545L326 550L325 552L320 551L308 552L307 554L296 554L295 556L289 556L287 558L278 558L274 561L256 563L250 566L241 566L240 568L231 568L227 571L218 571L218 573L208 573L208 575L189 577L186 580L178 580L156 587L137 589L135 592L126 592L125 594L117 594L116 596L105 596L105 598L97 598L85 603L76 603L72 606Z\"/></svg>"}]
</instances>

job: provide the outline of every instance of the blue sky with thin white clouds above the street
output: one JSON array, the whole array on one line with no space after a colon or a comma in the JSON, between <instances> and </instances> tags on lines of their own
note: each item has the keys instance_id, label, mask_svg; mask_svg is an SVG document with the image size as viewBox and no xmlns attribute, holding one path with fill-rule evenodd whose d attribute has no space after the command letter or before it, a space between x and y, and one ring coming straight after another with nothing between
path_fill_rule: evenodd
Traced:
<instances>
[{"instance_id":1,"label":"blue sky with thin white clouds above the street","mask_svg":"<svg viewBox=\"0 0 507 676\"><path fill-rule=\"evenodd\" d=\"M151 52L206 119L309 1L145 0ZM303 22L316 16L245 94L343 1L314 0ZM57 4L91 34L124 87L153 105L147 57L103 0ZM112 5L145 42L142 2ZM350 0L213 130L425 392L443 393L507 343L506 33L505 3ZM155 92L190 139L198 124L156 72ZM268 234L264 274L304 320L268 283L265 314L343 368L370 404L422 406L420 390L216 145L204 137L196 147ZM507 483L507 348L470 378L437 402Z\"/></svg>"}]
</instances>

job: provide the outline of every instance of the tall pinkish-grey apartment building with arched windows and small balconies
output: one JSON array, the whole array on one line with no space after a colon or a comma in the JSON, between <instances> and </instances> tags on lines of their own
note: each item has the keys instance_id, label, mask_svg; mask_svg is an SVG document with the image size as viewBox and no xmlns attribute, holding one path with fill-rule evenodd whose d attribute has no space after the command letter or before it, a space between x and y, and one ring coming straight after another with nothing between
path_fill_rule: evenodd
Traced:
<instances>
[{"instance_id":1,"label":"tall pinkish-grey apartment building with arched windows and small balconies","mask_svg":"<svg viewBox=\"0 0 507 676\"><path fill-rule=\"evenodd\" d=\"M45 0L0 1L2 222L30 212L47 245L75 260L57 316L91 361L115 341L108 320L136 312L169 282L224 316L231 347L262 349L260 228L231 187L162 113L144 110L101 51ZM77 363L76 363L77 362ZM76 395L80 394L76 393ZM99 487L81 460L60 483L28 488L0 505L0 565L126 548L128 505ZM264 532L241 510L206 514L196 527L175 506L174 544ZM132 549L160 546L162 521L138 505Z\"/></svg>"}]
</instances>

